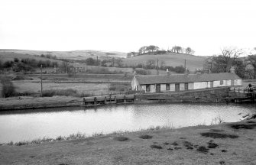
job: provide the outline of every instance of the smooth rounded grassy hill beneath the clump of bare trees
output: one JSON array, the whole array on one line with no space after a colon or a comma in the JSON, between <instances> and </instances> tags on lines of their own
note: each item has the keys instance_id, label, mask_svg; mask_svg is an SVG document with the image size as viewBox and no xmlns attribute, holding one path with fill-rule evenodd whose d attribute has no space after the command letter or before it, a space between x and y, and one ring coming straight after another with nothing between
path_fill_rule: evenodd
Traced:
<instances>
[{"instance_id":1,"label":"smooth rounded grassy hill beneath the clump of bare trees","mask_svg":"<svg viewBox=\"0 0 256 165\"><path fill-rule=\"evenodd\" d=\"M206 57L194 56L184 53L164 53L158 55L144 54L141 56L130 57L124 59L123 62L127 66L137 65L138 63L147 63L147 60L159 60L164 61L167 66L184 66L184 61L186 60L186 68L191 71L198 69L203 69L204 60Z\"/></svg>"}]
</instances>

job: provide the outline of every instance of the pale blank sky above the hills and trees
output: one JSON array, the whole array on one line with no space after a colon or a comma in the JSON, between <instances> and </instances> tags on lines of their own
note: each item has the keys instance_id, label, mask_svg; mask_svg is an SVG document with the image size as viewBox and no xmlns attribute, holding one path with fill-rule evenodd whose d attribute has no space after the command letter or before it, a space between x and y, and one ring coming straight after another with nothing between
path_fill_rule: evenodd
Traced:
<instances>
[{"instance_id":1,"label":"pale blank sky above the hills and trees","mask_svg":"<svg viewBox=\"0 0 256 165\"><path fill-rule=\"evenodd\" d=\"M0 49L256 47L255 0L0 0Z\"/></svg>"}]
</instances>

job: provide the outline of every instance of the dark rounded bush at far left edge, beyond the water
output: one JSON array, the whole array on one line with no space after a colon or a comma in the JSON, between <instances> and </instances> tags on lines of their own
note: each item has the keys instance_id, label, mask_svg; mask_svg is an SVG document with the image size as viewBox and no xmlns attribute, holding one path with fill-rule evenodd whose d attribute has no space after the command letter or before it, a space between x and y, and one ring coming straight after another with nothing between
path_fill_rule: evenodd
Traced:
<instances>
[{"instance_id":1,"label":"dark rounded bush at far left edge, beyond the water","mask_svg":"<svg viewBox=\"0 0 256 165\"><path fill-rule=\"evenodd\" d=\"M8 79L8 78L4 77L4 78L1 79L1 83L2 83L1 96L3 98L15 96L15 93L16 93L15 86L11 82L11 79Z\"/></svg>"}]
</instances>

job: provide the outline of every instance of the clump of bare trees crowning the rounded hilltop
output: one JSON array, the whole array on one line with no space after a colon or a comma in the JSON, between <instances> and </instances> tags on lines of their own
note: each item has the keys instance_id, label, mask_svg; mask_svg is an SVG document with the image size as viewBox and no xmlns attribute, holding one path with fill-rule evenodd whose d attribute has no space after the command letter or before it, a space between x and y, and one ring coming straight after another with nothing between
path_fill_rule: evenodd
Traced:
<instances>
[{"instance_id":1,"label":"clump of bare trees crowning the rounded hilltop","mask_svg":"<svg viewBox=\"0 0 256 165\"><path fill-rule=\"evenodd\" d=\"M186 54L194 54L195 51L193 49L191 49L190 47L180 47L180 46L174 46L172 47L170 50L160 50L159 47L154 46L154 45L149 45L149 46L143 46L141 47L138 52L134 52L131 51L129 53L127 53L126 57L135 57L135 56L140 56L140 55L144 55L144 54L149 54L149 53L153 53L154 55L157 54L162 54L162 53L167 53L167 52L173 52L173 53L186 53Z\"/></svg>"}]
</instances>

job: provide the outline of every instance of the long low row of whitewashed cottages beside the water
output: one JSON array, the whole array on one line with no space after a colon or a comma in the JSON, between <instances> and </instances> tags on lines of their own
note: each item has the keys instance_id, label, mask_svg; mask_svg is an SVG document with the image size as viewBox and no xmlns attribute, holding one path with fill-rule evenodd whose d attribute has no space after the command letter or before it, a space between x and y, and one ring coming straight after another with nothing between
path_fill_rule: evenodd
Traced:
<instances>
[{"instance_id":1,"label":"long low row of whitewashed cottages beside the water","mask_svg":"<svg viewBox=\"0 0 256 165\"><path fill-rule=\"evenodd\" d=\"M235 73L183 74L134 76L133 90L145 92L179 92L220 86L241 86L241 78Z\"/></svg>"}]
</instances>

